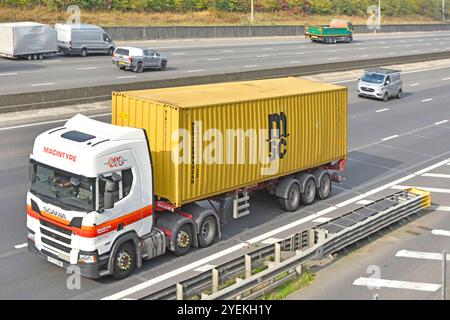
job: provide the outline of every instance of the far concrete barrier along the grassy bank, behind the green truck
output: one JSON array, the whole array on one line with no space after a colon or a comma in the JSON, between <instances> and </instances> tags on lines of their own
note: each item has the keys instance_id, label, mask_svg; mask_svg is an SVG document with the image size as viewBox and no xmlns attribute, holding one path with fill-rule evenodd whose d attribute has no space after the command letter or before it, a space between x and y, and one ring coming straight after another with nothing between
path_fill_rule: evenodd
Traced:
<instances>
[{"instance_id":1,"label":"far concrete barrier along the grassy bank, behind the green truck","mask_svg":"<svg viewBox=\"0 0 450 320\"><path fill-rule=\"evenodd\" d=\"M370 33L365 25L355 25L355 33ZM169 27L104 27L116 41L198 38L236 38L303 36L303 25L284 26L169 26ZM450 24L382 25L379 32L445 31Z\"/></svg>"}]
</instances>

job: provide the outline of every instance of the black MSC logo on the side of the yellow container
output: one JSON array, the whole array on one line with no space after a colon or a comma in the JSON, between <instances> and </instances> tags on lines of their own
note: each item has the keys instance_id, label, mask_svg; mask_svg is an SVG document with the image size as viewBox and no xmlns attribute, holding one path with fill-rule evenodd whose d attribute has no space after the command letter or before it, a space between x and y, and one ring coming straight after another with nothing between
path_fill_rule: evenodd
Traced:
<instances>
[{"instance_id":1,"label":"black MSC logo on the side of the yellow container","mask_svg":"<svg viewBox=\"0 0 450 320\"><path fill-rule=\"evenodd\" d=\"M277 158L283 159L287 153L289 137L287 117L284 112L269 114L268 131L270 161L275 161Z\"/></svg>"}]
</instances>

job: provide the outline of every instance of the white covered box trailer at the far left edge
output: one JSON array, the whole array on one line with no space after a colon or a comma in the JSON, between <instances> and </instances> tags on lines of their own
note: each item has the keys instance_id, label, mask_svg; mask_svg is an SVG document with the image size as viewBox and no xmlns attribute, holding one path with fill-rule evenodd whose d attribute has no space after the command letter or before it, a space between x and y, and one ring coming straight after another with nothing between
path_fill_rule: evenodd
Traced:
<instances>
[{"instance_id":1,"label":"white covered box trailer at the far left edge","mask_svg":"<svg viewBox=\"0 0 450 320\"><path fill-rule=\"evenodd\" d=\"M57 52L52 27L35 22L0 23L0 56L36 60Z\"/></svg>"}]
</instances>

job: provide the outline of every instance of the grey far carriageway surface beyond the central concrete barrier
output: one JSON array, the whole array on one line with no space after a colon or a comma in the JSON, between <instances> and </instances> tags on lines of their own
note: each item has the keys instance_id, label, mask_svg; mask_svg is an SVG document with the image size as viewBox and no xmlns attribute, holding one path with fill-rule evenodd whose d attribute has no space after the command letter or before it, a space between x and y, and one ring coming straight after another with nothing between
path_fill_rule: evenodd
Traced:
<instances>
[{"instance_id":1,"label":"grey far carriageway surface beyond the central concrete barrier","mask_svg":"<svg viewBox=\"0 0 450 320\"><path fill-rule=\"evenodd\" d=\"M0 59L0 95L189 77L241 70L364 60L450 51L450 32L362 34L351 44L325 45L303 37L214 39L128 43L166 54L166 71L118 70L108 56L43 61Z\"/></svg>"}]
</instances>

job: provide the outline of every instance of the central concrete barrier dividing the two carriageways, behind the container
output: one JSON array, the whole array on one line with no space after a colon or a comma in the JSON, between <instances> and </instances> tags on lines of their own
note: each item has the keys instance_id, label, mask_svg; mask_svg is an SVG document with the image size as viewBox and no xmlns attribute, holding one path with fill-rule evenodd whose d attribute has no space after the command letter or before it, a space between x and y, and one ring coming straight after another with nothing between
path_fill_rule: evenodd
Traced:
<instances>
[{"instance_id":1,"label":"central concrete barrier dividing the two carriageways, behind the container","mask_svg":"<svg viewBox=\"0 0 450 320\"><path fill-rule=\"evenodd\" d=\"M147 80L133 83L120 83L94 87L0 95L0 113L105 101L110 99L112 91L178 87L186 85L244 81L286 76L305 76L324 72L348 71L360 68L385 66L390 64L448 59L449 57L450 51L445 51L388 58L332 62L262 70L238 71L223 74L210 74L194 77Z\"/></svg>"}]
</instances>

